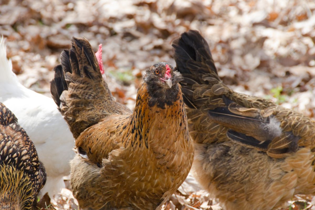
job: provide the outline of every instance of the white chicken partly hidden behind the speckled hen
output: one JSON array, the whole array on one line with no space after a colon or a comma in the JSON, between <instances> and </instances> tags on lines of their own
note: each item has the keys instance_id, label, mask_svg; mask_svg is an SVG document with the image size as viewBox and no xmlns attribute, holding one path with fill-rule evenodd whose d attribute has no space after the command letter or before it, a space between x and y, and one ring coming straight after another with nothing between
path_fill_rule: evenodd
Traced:
<instances>
[{"instance_id":1,"label":"white chicken partly hidden behind the speckled hen","mask_svg":"<svg viewBox=\"0 0 315 210\"><path fill-rule=\"evenodd\" d=\"M4 38L0 40L0 101L19 119L46 168L47 181L41 195L48 192L53 196L65 187L63 176L70 173L74 138L54 100L20 84L7 59Z\"/></svg>"}]
</instances>

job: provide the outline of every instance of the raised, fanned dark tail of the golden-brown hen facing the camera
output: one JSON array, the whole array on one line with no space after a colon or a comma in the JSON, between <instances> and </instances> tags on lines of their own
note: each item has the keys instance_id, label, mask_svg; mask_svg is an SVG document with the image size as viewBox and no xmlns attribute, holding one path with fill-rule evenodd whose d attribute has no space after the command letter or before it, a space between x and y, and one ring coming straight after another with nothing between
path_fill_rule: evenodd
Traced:
<instances>
[{"instance_id":1,"label":"raised, fanned dark tail of the golden-brown hen facing the camera","mask_svg":"<svg viewBox=\"0 0 315 210\"><path fill-rule=\"evenodd\" d=\"M54 68L52 97L70 130L77 136L119 108L103 80L93 48L85 38L72 38L72 48L64 50L61 65ZM118 110L118 111L117 111Z\"/></svg>"}]
</instances>

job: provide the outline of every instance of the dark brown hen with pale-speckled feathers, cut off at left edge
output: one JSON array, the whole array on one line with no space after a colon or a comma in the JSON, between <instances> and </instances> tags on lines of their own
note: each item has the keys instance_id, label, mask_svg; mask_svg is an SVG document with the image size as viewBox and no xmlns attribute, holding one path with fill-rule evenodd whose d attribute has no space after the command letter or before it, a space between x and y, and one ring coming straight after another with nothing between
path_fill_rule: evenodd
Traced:
<instances>
[{"instance_id":1,"label":"dark brown hen with pale-speckled feathers, cut off at left edge","mask_svg":"<svg viewBox=\"0 0 315 210\"><path fill-rule=\"evenodd\" d=\"M37 194L45 182L45 168L33 142L0 103L0 209L37 209Z\"/></svg>"}]
</instances>

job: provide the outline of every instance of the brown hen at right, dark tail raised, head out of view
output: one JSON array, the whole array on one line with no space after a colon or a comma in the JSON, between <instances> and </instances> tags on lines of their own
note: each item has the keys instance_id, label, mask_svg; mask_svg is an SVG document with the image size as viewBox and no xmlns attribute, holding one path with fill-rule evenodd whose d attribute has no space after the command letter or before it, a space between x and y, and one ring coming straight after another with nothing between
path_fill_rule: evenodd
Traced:
<instances>
[{"instance_id":1,"label":"brown hen at right, dark tail raised, head out of view","mask_svg":"<svg viewBox=\"0 0 315 210\"><path fill-rule=\"evenodd\" d=\"M228 210L275 209L295 194L314 194L315 122L224 85L198 31L173 47L199 183Z\"/></svg>"}]
</instances>

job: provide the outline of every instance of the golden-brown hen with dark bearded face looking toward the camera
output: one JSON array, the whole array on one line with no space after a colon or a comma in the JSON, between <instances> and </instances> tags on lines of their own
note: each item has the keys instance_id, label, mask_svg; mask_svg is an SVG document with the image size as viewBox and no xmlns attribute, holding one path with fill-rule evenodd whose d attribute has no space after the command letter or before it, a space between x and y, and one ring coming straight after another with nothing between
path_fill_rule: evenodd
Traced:
<instances>
[{"instance_id":1,"label":"golden-brown hen with dark bearded face looking toward the camera","mask_svg":"<svg viewBox=\"0 0 315 210\"><path fill-rule=\"evenodd\" d=\"M80 209L159 209L182 184L194 151L180 79L168 63L150 67L132 112L114 100L86 39L61 53L51 93L76 139Z\"/></svg>"}]
</instances>

